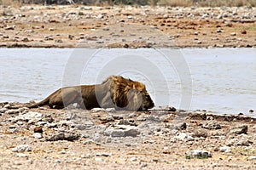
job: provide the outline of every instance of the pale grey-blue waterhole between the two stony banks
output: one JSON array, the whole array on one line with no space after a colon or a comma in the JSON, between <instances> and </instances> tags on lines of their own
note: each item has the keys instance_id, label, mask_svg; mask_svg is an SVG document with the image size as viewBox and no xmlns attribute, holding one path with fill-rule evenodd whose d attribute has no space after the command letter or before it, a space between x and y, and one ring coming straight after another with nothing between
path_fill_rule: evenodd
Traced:
<instances>
[{"instance_id":1,"label":"pale grey-blue waterhole between the two stony banks","mask_svg":"<svg viewBox=\"0 0 256 170\"><path fill-rule=\"evenodd\" d=\"M145 83L156 106L256 109L255 48L0 48L0 60L0 102L38 101L62 86L122 75Z\"/></svg>"}]
</instances>

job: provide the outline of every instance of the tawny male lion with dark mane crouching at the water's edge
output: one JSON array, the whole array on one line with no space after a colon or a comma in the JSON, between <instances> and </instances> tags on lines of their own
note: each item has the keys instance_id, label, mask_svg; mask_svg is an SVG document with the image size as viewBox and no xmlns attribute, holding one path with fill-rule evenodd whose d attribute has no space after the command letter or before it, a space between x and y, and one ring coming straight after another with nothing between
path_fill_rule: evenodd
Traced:
<instances>
[{"instance_id":1,"label":"tawny male lion with dark mane crouching at the water's edge","mask_svg":"<svg viewBox=\"0 0 256 170\"><path fill-rule=\"evenodd\" d=\"M73 103L88 110L114 107L116 110L146 111L154 107L154 102L142 82L111 76L102 84L60 88L29 108L49 105L50 108L62 109Z\"/></svg>"}]
</instances>

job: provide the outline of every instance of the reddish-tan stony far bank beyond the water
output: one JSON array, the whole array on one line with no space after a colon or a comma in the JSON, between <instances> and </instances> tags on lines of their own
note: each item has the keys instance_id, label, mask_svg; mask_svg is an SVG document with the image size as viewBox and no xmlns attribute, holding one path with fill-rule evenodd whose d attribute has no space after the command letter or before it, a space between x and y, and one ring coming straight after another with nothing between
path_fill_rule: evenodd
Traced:
<instances>
[{"instance_id":1,"label":"reddish-tan stony far bank beyond the water","mask_svg":"<svg viewBox=\"0 0 256 170\"><path fill-rule=\"evenodd\" d=\"M2 6L0 47L255 47L256 9Z\"/></svg>"}]
</instances>

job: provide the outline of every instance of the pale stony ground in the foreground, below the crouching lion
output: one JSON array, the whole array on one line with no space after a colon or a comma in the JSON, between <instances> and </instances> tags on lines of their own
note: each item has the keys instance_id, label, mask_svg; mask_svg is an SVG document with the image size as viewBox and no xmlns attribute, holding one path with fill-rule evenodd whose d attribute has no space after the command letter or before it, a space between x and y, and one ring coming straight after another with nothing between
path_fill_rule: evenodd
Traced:
<instances>
[{"instance_id":1,"label":"pale stony ground in the foreground, below the crouching lion","mask_svg":"<svg viewBox=\"0 0 256 170\"><path fill-rule=\"evenodd\" d=\"M255 169L256 118L0 105L0 169Z\"/></svg>"}]
</instances>

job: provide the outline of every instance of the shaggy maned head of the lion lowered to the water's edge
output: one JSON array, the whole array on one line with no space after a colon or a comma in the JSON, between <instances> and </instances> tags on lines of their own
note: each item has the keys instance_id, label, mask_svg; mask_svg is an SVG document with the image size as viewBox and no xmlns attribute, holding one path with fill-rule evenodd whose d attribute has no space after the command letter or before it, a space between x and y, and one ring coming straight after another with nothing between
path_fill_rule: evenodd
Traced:
<instances>
[{"instance_id":1,"label":"shaggy maned head of the lion lowered to the water's edge","mask_svg":"<svg viewBox=\"0 0 256 170\"><path fill-rule=\"evenodd\" d=\"M117 76L108 77L104 82L110 82L110 98L117 109L146 111L154 107L154 102L142 82Z\"/></svg>"}]
</instances>

